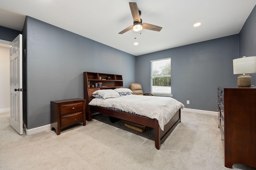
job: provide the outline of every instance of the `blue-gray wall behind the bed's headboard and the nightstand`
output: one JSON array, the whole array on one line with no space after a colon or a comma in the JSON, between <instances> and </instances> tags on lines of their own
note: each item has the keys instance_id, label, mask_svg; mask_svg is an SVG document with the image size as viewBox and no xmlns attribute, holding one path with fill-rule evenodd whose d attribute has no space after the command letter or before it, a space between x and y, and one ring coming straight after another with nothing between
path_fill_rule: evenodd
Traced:
<instances>
[{"instance_id":1,"label":"blue-gray wall behind the bed's headboard and the nightstand","mask_svg":"<svg viewBox=\"0 0 256 170\"><path fill-rule=\"evenodd\" d=\"M83 98L83 72L135 81L135 57L48 23L26 18L27 128L50 124L50 101Z\"/></svg>"}]
</instances>

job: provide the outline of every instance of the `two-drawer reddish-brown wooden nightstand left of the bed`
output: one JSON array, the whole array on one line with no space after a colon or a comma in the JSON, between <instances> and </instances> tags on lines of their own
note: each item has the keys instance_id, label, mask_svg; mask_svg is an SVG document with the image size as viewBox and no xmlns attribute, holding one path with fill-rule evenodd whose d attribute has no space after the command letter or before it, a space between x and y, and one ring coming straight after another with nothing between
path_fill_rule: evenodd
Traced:
<instances>
[{"instance_id":1,"label":"two-drawer reddish-brown wooden nightstand left of the bed","mask_svg":"<svg viewBox=\"0 0 256 170\"><path fill-rule=\"evenodd\" d=\"M67 99L51 101L51 130L56 130L57 135L60 135L60 130L74 125L83 123L86 125L84 99Z\"/></svg>"}]
</instances>

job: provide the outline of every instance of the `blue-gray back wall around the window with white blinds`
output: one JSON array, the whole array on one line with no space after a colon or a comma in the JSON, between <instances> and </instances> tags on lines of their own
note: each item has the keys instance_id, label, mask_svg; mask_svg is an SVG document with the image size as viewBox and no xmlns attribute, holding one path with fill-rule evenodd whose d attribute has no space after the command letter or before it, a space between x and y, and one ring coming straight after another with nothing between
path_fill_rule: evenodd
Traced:
<instances>
[{"instance_id":1,"label":"blue-gray back wall around the window with white blinds","mask_svg":"<svg viewBox=\"0 0 256 170\"><path fill-rule=\"evenodd\" d=\"M186 108L216 111L218 86L236 85L239 35L136 57L136 82L150 92L150 61L171 57L172 94ZM190 100L190 104L186 104Z\"/></svg>"}]
</instances>

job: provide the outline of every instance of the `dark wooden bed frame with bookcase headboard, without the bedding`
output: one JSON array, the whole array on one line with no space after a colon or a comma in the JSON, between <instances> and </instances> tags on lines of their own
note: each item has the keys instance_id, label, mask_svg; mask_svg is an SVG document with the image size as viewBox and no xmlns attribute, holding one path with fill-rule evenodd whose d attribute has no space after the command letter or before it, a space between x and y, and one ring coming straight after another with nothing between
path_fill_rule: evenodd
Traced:
<instances>
[{"instance_id":1,"label":"dark wooden bed frame with bookcase headboard, without the bedding","mask_svg":"<svg viewBox=\"0 0 256 170\"><path fill-rule=\"evenodd\" d=\"M96 74L97 76L93 76L92 74ZM109 76L108 76L109 75ZM151 128L155 129L155 146L156 149L160 149L160 145L161 143L163 143L167 137L170 135L170 133L172 133L172 131L175 129L175 127L178 125L178 123L180 123L181 121L181 109L179 109L175 115L172 117L172 119L170 119L170 121L164 126L164 131L162 131L160 129L160 126L158 124L158 120L156 119L151 119L148 117L144 117L144 116L140 116L140 115L134 115L134 114L130 114L130 113L125 113L125 112L121 112L121 111L115 111L112 109L106 109L103 107L98 107L98 106L89 106L88 103L93 99L92 97L92 93L96 90L100 90L100 89L115 89L115 88L122 88L122 83L120 83L121 81L118 80L117 84L115 80L110 80L110 82L112 82L111 86L107 86L107 87L97 87L97 88L92 88L92 87L88 87L88 81L90 82L94 82L94 80L96 82L101 81L102 84L108 84L109 82L106 80L99 80L99 77L115 77L116 75L113 76L113 74L105 74L105 73L92 73L92 72L84 72L84 98L86 99L86 119L88 121L92 120L92 113L94 112L99 112L105 115L109 115L112 117L116 117L118 119L122 119L122 120L126 120L126 121L130 121L130 122L134 122L134 123L138 123L140 125L145 125ZM118 75L118 77L122 78L122 76ZM104 78L105 79L105 78ZM113 83L114 82L114 83ZM115 86L117 85L117 86ZM103 85L102 85L103 86Z\"/></svg>"}]
</instances>

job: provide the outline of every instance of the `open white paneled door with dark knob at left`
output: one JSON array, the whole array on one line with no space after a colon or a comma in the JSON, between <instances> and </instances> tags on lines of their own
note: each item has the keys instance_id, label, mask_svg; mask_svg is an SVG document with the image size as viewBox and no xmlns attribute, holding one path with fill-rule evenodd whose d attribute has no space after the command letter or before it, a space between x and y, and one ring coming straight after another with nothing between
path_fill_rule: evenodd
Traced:
<instances>
[{"instance_id":1,"label":"open white paneled door with dark knob at left","mask_svg":"<svg viewBox=\"0 0 256 170\"><path fill-rule=\"evenodd\" d=\"M10 46L10 125L22 135L22 35Z\"/></svg>"}]
</instances>

